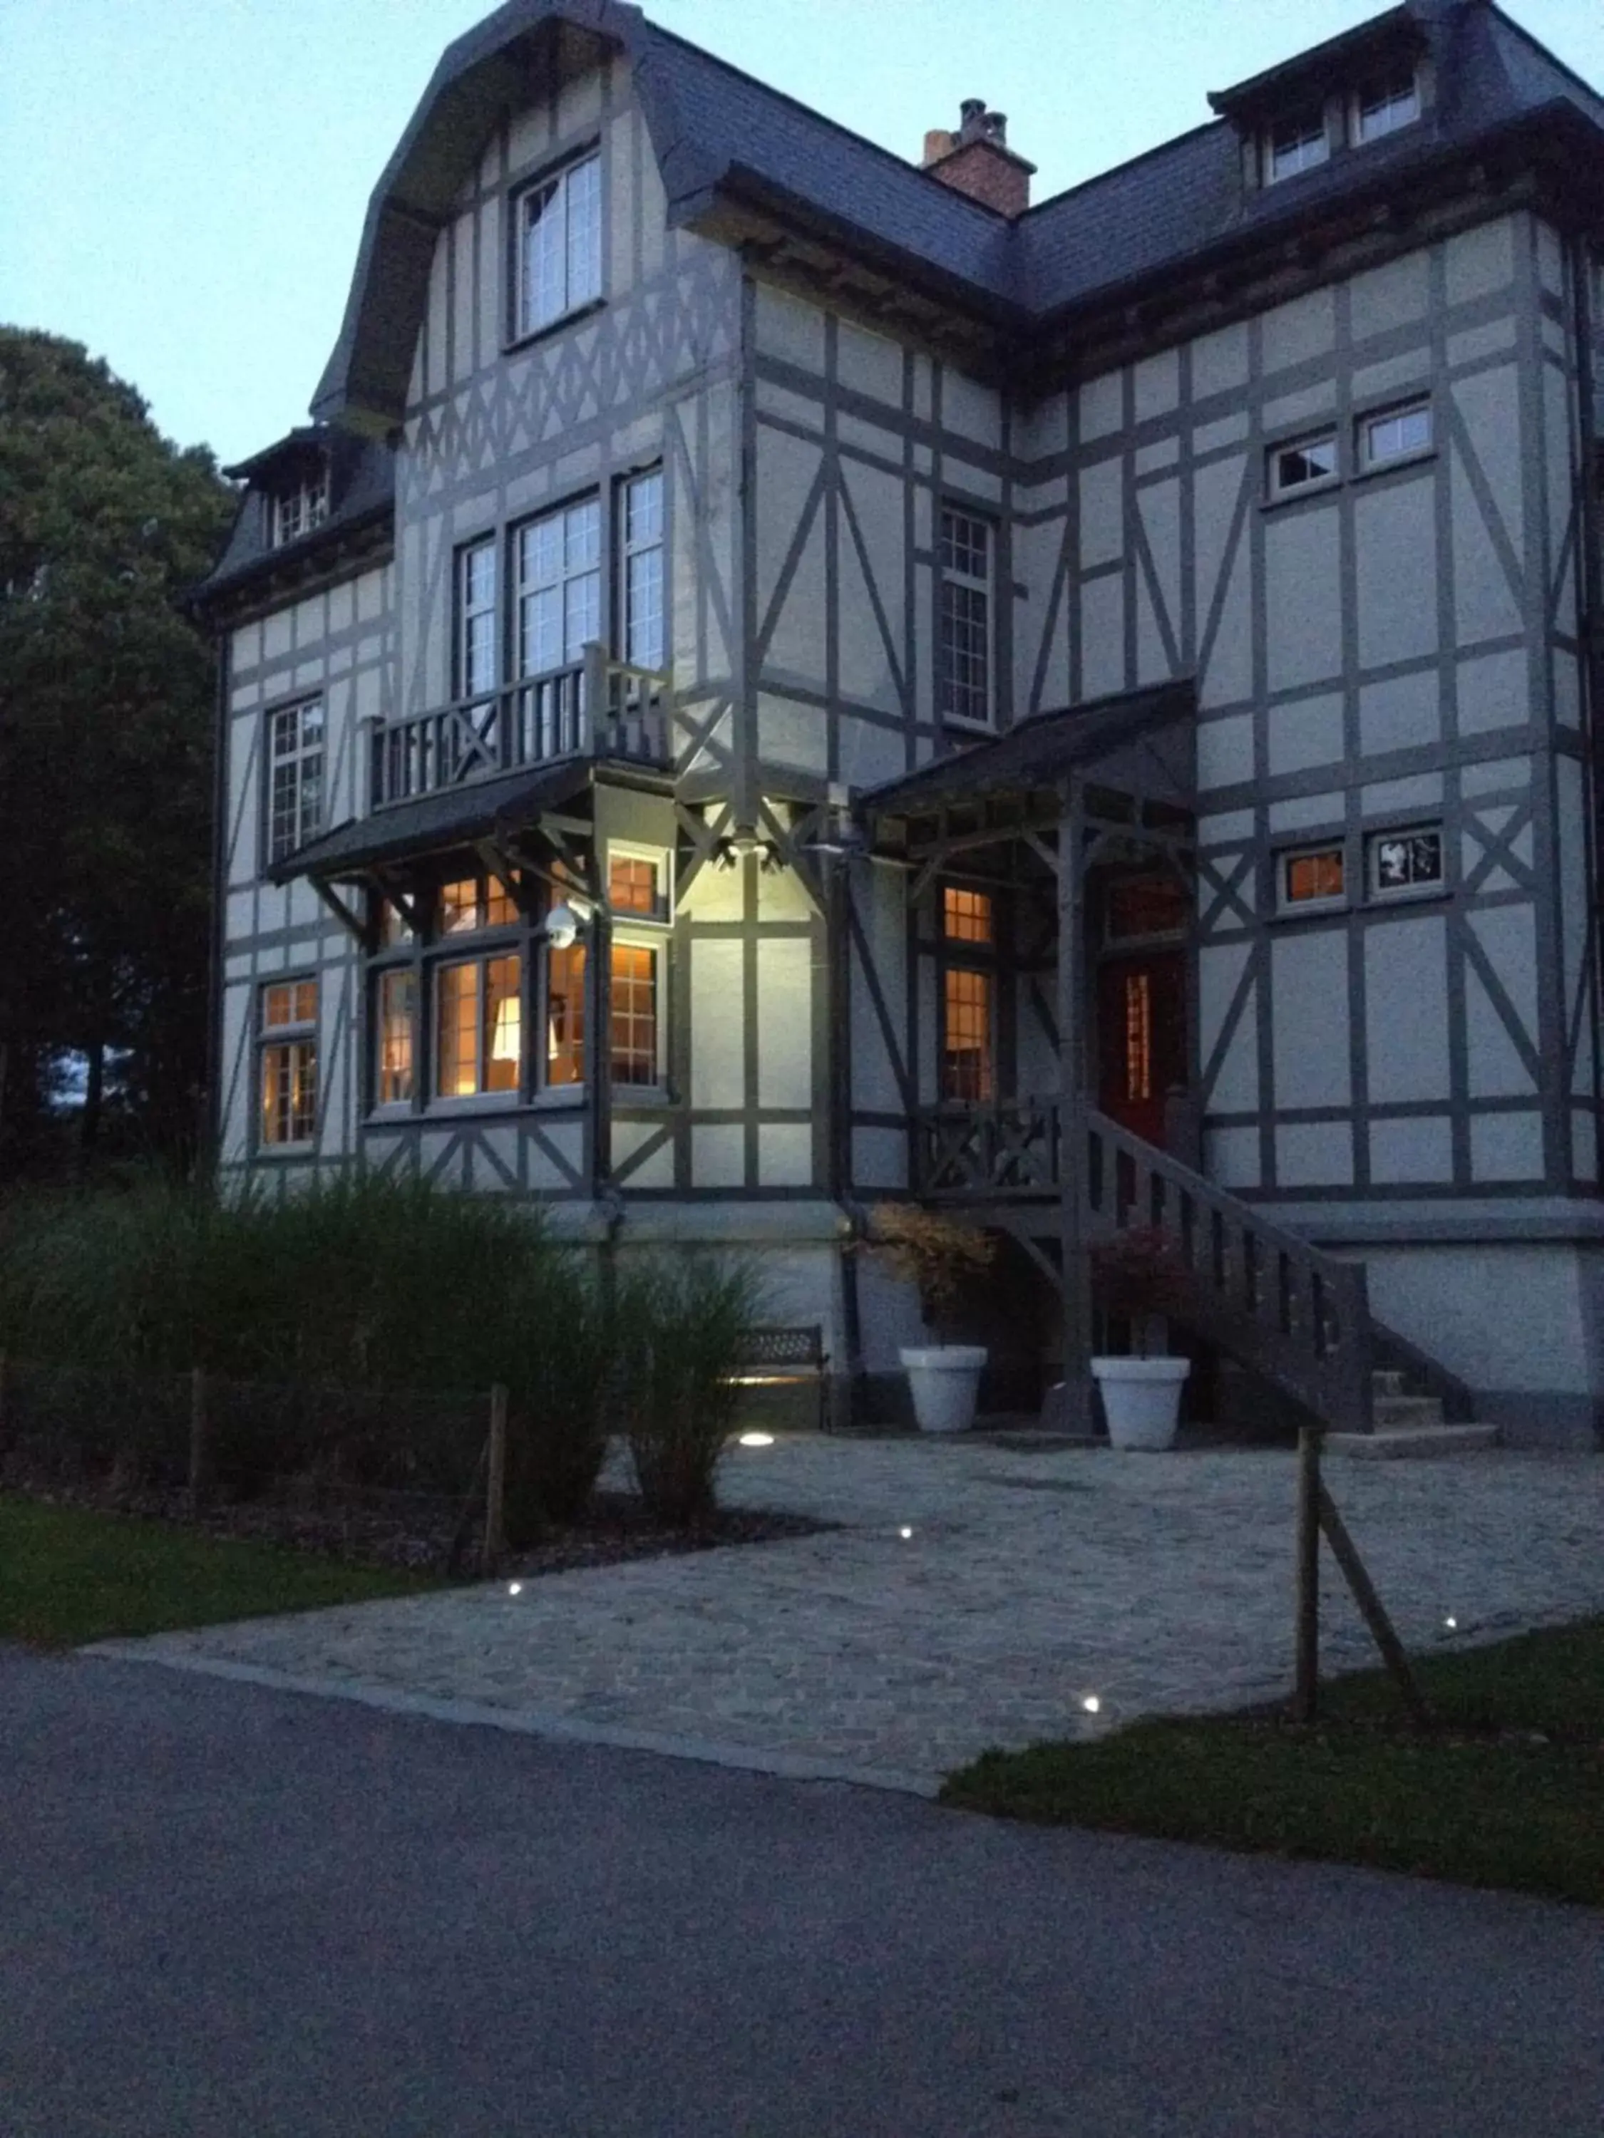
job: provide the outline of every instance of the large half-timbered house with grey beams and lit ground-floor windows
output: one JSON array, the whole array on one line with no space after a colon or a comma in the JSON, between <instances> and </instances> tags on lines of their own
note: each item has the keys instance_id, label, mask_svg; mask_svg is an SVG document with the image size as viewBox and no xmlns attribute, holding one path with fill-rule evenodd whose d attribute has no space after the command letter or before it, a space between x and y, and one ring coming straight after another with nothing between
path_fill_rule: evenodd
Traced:
<instances>
[{"instance_id":1,"label":"large half-timbered house with grey beams and lit ground-floor windows","mask_svg":"<svg viewBox=\"0 0 1604 2138\"><path fill-rule=\"evenodd\" d=\"M868 1409L868 1204L1071 1413L1159 1223L1221 1403L1591 1441L1604 100L1407 0L1210 105L1033 207L616 0L449 47L205 588L225 1174L751 1244Z\"/></svg>"}]
</instances>

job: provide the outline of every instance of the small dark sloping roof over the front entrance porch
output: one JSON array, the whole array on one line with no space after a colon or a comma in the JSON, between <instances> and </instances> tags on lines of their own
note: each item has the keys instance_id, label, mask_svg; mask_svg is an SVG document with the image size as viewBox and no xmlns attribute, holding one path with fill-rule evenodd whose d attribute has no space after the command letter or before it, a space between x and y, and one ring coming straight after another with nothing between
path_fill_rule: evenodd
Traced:
<instances>
[{"instance_id":1,"label":"small dark sloping roof over the front entrance porch","mask_svg":"<svg viewBox=\"0 0 1604 2138\"><path fill-rule=\"evenodd\" d=\"M1191 678L1037 712L1005 735L920 765L860 795L873 817L930 817L969 802L1022 800L1069 774L1099 787L1193 808L1198 686Z\"/></svg>"}]
</instances>

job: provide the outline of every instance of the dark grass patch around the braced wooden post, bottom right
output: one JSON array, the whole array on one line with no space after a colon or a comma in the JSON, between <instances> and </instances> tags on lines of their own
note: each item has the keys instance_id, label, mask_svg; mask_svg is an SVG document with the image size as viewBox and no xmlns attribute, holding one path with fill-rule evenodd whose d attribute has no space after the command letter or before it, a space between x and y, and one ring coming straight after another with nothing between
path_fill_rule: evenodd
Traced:
<instances>
[{"instance_id":1,"label":"dark grass patch around the braced wooden post, bottom right","mask_svg":"<svg viewBox=\"0 0 1604 2138\"><path fill-rule=\"evenodd\" d=\"M941 1800L1604 1905L1604 1618L1424 1657L1416 1672L1429 1734L1407 1730L1386 1672L1367 1670L1322 1685L1309 1728L1266 1710L1166 1717L988 1751Z\"/></svg>"}]
</instances>

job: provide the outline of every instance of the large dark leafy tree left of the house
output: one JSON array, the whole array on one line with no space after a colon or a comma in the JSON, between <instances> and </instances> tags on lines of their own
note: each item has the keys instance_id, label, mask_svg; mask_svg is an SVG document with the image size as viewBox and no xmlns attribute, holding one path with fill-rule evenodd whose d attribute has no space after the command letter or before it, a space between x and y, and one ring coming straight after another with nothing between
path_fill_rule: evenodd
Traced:
<instances>
[{"instance_id":1,"label":"large dark leafy tree left of the house","mask_svg":"<svg viewBox=\"0 0 1604 2138\"><path fill-rule=\"evenodd\" d=\"M216 718L184 603L231 513L103 361L0 327L0 1174L68 1054L86 1142L105 1097L122 1148L192 1148Z\"/></svg>"}]
</instances>

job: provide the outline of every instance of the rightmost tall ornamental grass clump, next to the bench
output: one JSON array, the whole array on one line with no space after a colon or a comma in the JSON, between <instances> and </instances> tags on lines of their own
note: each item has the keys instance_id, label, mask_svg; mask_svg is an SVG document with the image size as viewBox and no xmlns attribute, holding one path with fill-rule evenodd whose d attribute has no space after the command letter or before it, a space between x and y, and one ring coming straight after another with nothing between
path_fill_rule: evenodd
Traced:
<instances>
[{"instance_id":1,"label":"rightmost tall ornamental grass clump, next to the bench","mask_svg":"<svg viewBox=\"0 0 1604 2138\"><path fill-rule=\"evenodd\" d=\"M618 1272L616 1400L639 1494L661 1522L695 1529L716 1512L759 1311L757 1270L736 1255L654 1255Z\"/></svg>"}]
</instances>

